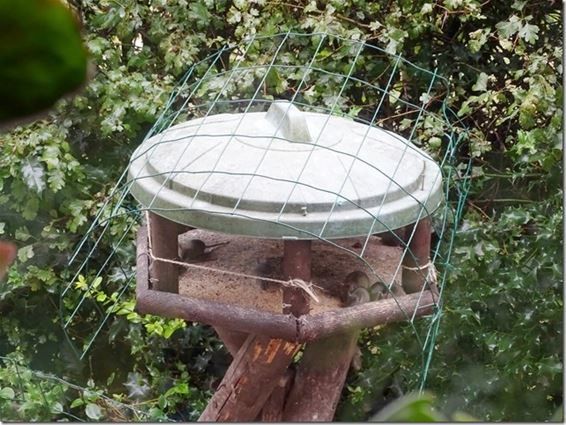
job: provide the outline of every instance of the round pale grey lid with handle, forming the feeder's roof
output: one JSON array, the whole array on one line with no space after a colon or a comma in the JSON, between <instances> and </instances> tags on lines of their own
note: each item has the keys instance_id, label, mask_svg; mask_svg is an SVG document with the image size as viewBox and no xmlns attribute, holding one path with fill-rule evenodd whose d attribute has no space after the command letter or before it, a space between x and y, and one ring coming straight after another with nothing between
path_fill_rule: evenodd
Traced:
<instances>
[{"instance_id":1,"label":"round pale grey lid with handle, forming the feeder's roof","mask_svg":"<svg viewBox=\"0 0 566 425\"><path fill-rule=\"evenodd\" d=\"M385 232L443 199L438 165L403 137L286 101L172 126L138 147L129 179L169 220L267 239Z\"/></svg>"}]
</instances>

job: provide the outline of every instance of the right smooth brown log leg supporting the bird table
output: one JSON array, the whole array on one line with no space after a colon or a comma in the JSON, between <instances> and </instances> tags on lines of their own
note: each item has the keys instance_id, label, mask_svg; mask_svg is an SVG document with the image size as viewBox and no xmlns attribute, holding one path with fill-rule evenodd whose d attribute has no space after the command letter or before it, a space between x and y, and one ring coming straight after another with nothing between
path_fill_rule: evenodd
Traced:
<instances>
[{"instance_id":1,"label":"right smooth brown log leg supporting the bird table","mask_svg":"<svg viewBox=\"0 0 566 425\"><path fill-rule=\"evenodd\" d=\"M359 330L307 344L285 403L284 422L330 422L356 349Z\"/></svg>"}]
</instances>

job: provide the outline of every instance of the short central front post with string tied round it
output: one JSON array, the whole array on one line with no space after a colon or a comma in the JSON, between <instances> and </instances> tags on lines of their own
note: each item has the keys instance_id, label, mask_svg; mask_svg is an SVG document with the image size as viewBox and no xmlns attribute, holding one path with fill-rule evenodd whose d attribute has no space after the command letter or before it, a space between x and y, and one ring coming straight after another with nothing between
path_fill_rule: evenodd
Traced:
<instances>
[{"instance_id":1,"label":"short central front post with string tied round it","mask_svg":"<svg viewBox=\"0 0 566 425\"><path fill-rule=\"evenodd\" d=\"M311 280L311 241L286 240L283 243L285 279ZM299 317L310 311L308 296L300 288L283 288L283 313Z\"/></svg>"}]
</instances>

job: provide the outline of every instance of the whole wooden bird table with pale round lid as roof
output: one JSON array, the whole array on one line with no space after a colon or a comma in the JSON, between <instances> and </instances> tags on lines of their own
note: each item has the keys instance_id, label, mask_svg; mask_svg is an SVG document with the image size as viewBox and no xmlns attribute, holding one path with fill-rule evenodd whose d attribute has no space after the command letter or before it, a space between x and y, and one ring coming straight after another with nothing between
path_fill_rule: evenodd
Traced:
<instances>
[{"instance_id":1,"label":"whole wooden bird table with pale round lid as roof","mask_svg":"<svg viewBox=\"0 0 566 425\"><path fill-rule=\"evenodd\" d=\"M429 215L443 202L441 173L398 134L274 101L169 127L136 149L128 176L149 212L137 308L210 324L234 356L201 420L332 420L357 331L432 311ZM405 251L381 243L393 231ZM224 245L184 267L182 238ZM351 254L390 276L387 258L402 264L406 294L343 305L340 282L364 266ZM289 284L261 292L262 276L249 278L260 260ZM213 283L215 296L203 296ZM254 285L258 299L243 302Z\"/></svg>"}]
</instances>

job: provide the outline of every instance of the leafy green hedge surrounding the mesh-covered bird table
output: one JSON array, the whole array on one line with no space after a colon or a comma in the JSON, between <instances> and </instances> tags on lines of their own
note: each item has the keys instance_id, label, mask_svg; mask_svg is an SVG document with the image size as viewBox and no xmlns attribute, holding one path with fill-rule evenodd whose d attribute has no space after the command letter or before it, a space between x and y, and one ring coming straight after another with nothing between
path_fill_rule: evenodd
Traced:
<instances>
[{"instance_id":1,"label":"leafy green hedge surrounding the mesh-covered bird table","mask_svg":"<svg viewBox=\"0 0 566 425\"><path fill-rule=\"evenodd\" d=\"M558 2L69 3L94 76L48 119L0 135L0 236L19 246L0 283L0 418L198 417L229 361L213 333L140 316L129 294L79 361L59 323L66 263L188 66L226 42L287 29L365 38L449 78L449 103L471 129L459 155L473 158L474 170L427 389L447 412L550 418L562 403L563 373ZM123 255L134 264L133 249ZM348 378L339 419L365 419L414 389L421 363L411 336L402 324L364 332L363 368Z\"/></svg>"}]
</instances>

